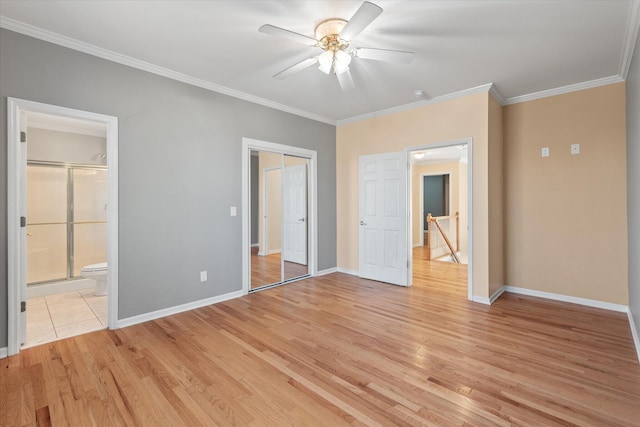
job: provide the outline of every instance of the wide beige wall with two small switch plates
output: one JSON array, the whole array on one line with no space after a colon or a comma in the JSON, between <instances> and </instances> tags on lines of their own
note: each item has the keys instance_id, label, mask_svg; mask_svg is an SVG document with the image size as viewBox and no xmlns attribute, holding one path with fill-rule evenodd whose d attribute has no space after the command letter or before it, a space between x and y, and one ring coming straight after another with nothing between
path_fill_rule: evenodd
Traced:
<instances>
[{"instance_id":1,"label":"wide beige wall with two small switch plates","mask_svg":"<svg viewBox=\"0 0 640 427\"><path fill-rule=\"evenodd\" d=\"M507 284L626 305L624 83L503 113Z\"/></svg>"}]
</instances>

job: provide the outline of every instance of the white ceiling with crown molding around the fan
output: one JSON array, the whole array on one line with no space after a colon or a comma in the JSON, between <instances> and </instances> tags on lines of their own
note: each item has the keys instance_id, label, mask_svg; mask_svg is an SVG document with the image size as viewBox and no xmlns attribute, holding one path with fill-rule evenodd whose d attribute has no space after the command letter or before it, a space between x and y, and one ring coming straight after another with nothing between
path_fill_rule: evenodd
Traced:
<instances>
[{"instance_id":1,"label":"white ceiling with crown molding around the fan","mask_svg":"<svg viewBox=\"0 0 640 427\"><path fill-rule=\"evenodd\" d=\"M2 0L0 26L341 123L415 104L419 89L428 100L494 83L509 103L565 86L622 81L640 22L637 0L373 2L384 11L352 46L416 55L408 65L354 59L356 88L348 92L315 66L272 78L320 51L258 28L272 24L313 37L318 22L349 19L359 0Z\"/></svg>"}]
</instances>

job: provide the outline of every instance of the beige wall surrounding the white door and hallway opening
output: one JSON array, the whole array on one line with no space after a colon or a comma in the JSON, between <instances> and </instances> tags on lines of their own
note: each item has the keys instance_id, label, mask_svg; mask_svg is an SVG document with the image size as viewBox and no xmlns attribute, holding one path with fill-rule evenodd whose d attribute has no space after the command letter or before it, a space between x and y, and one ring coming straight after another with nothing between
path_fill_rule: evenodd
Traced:
<instances>
[{"instance_id":1,"label":"beige wall surrounding the white door and hallway opening","mask_svg":"<svg viewBox=\"0 0 640 427\"><path fill-rule=\"evenodd\" d=\"M339 268L358 271L359 156L471 137L474 295L489 296L488 99L488 93L480 93L338 126L336 175Z\"/></svg>"}]
</instances>

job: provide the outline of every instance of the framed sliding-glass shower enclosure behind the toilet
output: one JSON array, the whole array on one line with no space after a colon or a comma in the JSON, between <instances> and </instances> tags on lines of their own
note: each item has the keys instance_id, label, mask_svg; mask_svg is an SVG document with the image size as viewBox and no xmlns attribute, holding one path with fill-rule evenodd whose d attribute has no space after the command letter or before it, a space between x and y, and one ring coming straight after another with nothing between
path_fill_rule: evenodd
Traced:
<instances>
[{"instance_id":1,"label":"framed sliding-glass shower enclosure behind the toilet","mask_svg":"<svg viewBox=\"0 0 640 427\"><path fill-rule=\"evenodd\" d=\"M107 260L107 169L27 163L27 284L70 280Z\"/></svg>"}]
</instances>

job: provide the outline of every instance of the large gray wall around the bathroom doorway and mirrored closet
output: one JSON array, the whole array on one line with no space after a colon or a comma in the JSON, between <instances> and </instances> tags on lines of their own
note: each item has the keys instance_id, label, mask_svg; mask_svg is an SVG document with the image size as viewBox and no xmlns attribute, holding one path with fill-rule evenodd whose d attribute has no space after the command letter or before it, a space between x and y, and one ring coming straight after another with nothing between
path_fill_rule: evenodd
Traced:
<instances>
[{"instance_id":1,"label":"large gray wall around the bathroom doorway and mirrored closet","mask_svg":"<svg viewBox=\"0 0 640 427\"><path fill-rule=\"evenodd\" d=\"M119 318L242 287L242 137L318 152L318 268L336 266L335 127L0 30L0 164L6 98L119 119ZM4 170L4 166L2 168ZM0 224L6 224L6 174ZM7 235L0 227L0 347ZM199 281L208 270L209 281Z\"/></svg>"}]
</instances>

